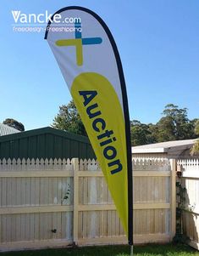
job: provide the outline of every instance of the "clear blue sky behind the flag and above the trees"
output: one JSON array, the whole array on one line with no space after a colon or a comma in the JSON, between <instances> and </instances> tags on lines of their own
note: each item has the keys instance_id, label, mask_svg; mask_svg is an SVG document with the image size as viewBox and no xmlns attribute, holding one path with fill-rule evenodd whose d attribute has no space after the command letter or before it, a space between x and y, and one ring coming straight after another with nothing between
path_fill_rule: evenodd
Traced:
<instances>
[{"instance_id":1,"label":"clear blue sky behind the flag and above the trees","mask_svg":"<svg viewBox=\"0 0 199 256\"><path fill-rule=\"evenodd\" d=\"M121 4L122 3L122 4ZM0 122L12 117L25 129L49 126L58 106L71 100L44 33L14 32L12 10L54 13L80 5L102 17L118 45L130 119L158 122L164 105L199 117L198 0L2 0Z\"/></svg>"}]
</instances>

